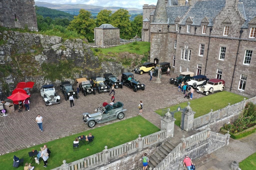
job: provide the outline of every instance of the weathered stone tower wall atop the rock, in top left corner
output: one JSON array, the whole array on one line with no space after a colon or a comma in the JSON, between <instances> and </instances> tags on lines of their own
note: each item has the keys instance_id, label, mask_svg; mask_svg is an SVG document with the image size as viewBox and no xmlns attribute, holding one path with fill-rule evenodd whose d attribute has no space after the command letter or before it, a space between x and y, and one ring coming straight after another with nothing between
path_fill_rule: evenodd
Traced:
<instances>
[{"instance_id":1,"label":"weathered stone tower wall atop the rock, in top left corner","mask_svg":"<svg viewBox=\"0 0 256 170\"><path fill-rule=\"evenodd\" d=\"M0 26L38 31L34 0L1 0Z\"/></svg>"}]
</instances>

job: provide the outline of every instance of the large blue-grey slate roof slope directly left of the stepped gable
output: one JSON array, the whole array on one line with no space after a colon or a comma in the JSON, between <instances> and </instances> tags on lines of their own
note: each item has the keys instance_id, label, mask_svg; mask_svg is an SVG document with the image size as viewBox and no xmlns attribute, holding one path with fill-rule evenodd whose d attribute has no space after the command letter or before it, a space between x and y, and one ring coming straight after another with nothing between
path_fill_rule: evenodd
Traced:
<instances>
[{"instance_id":1,"label":"large blue-grey slate roof slope directly left of the stepped gable","mask_svg":"<svg viewBox=\"0 0 256 170\"><path fill-rule=\"evenodd\" d=\"M212 27L212 19L215 18L219 14L220 10L225 7L225 3L226 0L197 1L195 6L189 10L180 25L185 25L186 19L190 16L191 18L194 18L192 25L200 26L202 19L206 16L210 21L208 26Z\"/></svg>"}]
</instances>

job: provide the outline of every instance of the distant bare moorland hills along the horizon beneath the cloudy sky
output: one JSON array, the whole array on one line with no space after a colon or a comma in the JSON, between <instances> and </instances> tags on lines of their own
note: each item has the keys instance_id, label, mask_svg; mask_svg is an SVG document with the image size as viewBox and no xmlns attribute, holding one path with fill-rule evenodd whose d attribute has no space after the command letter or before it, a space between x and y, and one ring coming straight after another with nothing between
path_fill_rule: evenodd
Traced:
<instances>
[{"instance_id":1,"label":"distant bare moorland hills along the horizon beneath the cloudy sky","mask_svg":"<svg viewBox=\"0 0 256 170\"><path fill-rule=\"evenodd\" d=\"M87 11L90 11L92 16L97 16L98 13L103 10L111 10L112 12L115 12L116 10L123 8L129 11L129 14L141 14L142 9L137 8L124 8L124 7L102 7L102 6L94 6L94 5L84 5L84 4L52 4L47 2L35 2L36 6L41 7L47 7L51 9L56 9L59 11L67 12L71 15L78 15L80 9L85 9Z\"/></svg>"}]
</instances>

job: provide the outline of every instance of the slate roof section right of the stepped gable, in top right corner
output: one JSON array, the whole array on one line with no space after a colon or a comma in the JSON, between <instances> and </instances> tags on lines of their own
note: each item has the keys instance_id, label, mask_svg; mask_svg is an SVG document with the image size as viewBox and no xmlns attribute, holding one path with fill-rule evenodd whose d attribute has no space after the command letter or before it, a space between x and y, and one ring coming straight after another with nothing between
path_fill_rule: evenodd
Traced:
<instances>
[{"instance_id":1,"label":"slate roof section right of the stepped gable, in top right corner","mask_svg":"<svg viewBox=\"0 0 256 170\"><path fill-rule=\"evenodd\" d=\"M248 23L256 16L256 2L255 0L239 0L239 2L243 3L244 11L240 3L238 4L238 9L245 15L245 19L247 19L247 21L243 23L242 28L248 28Z\"/></svg>"}]
</instances>

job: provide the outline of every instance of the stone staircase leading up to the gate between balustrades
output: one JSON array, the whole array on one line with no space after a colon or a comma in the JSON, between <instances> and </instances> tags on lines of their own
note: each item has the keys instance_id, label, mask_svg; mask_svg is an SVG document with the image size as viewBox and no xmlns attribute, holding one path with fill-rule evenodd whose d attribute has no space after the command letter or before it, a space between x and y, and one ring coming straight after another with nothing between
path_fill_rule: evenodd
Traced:
<instances>
[{"instance_id":1,"label":"stone staircase leading up to the gate between balustrades","mask_svg":"<svg viewBox=\"0 0 256 170\"><path fill-rule=\"evenodd\" d=\"M149 157L147 169L150 167L154 169L154 167L156 167L156 165L158 165L175 148L175 146L175 143L170 139L162 143L162 146Z\"/></svg>"}]
</instances>

